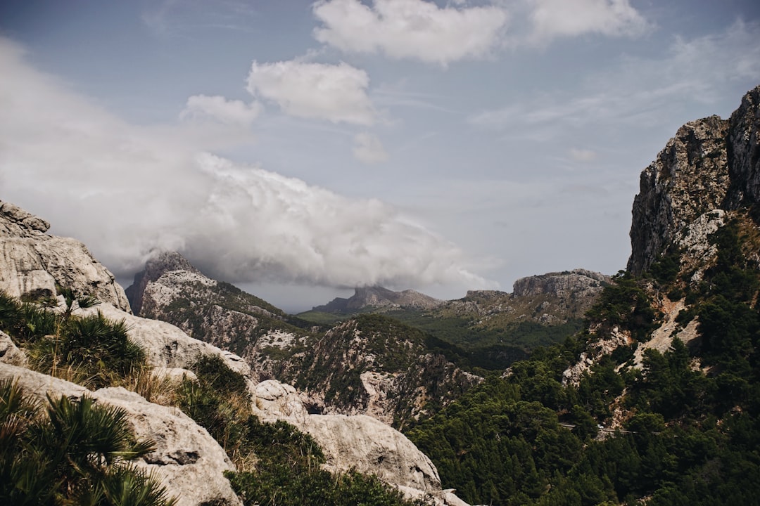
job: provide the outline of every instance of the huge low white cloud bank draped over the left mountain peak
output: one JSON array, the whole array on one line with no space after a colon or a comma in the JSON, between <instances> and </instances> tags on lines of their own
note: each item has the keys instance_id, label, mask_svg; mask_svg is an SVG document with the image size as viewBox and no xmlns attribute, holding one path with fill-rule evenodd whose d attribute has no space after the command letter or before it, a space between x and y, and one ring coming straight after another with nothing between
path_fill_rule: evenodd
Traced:
<instances>
[{"instance_id":1,"label":"huge low white cloud bank draped over the left mountain peak","mask_svg":"<svg viewBox=\"0 0 760 506\"><path fill-rule=\"evenodd\" d=\"M214 156L198 140L220 130L127 124L31 68L7 39L0 74L0 199L84 241L117 275L172 249L233 282L490 284L458 247L391 206Z\"/></svg>"}]
</instances>

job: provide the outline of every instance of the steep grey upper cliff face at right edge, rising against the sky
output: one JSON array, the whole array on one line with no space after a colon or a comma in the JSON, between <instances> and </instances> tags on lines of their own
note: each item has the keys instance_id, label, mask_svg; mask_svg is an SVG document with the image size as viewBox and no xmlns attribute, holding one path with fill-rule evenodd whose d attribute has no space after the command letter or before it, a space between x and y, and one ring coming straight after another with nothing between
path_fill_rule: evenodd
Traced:
<instances>
[{"instance_id":1,"label":"steep grey upper cliff face at right edge, rising against the sky","mask_svg":"<svg viewBox=\"0 0 760 506\"><path fill-rule=\"evenodd\" d=\"M711 116L685 124L644 169L633 203L630 272L648 269L700 215L760 202L758 104L760 86L730 120Z\"/></svg>"}]
</instances>

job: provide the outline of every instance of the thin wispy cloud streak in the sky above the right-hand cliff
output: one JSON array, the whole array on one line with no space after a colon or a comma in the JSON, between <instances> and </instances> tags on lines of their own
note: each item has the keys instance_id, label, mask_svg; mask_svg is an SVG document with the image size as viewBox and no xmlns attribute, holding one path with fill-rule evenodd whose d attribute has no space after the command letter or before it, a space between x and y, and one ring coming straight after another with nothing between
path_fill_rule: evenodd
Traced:
<instances>
[{"instance_id":1,"label":"thin wispy cloud streak in the sky above the right-hand cliff","mask_svg":"<svg viewBox=\"0 0 760 506\"><path fill-rule=\"evenodd\" d=\"M589 124L661 124L684 102L712 104L725 90L760 80L760 24L737 21L724 33L676 37L662 58L622 58L587 77L584 90L521 99L472 115L483 127L580 128ZM732 95L733 98L733 95ZM715 112L714 109L711 109ZM693 118L692 118L693 119Z\"/></svg>"}]
</instances>

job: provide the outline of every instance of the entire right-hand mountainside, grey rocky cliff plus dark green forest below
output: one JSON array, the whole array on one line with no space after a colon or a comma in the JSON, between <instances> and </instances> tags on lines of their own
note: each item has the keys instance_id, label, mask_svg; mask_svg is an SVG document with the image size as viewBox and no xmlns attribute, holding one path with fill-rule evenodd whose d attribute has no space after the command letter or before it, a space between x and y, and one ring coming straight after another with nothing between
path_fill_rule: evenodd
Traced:
<instances>
[{"instance_id":1,"label":"entire right-hand mountainside, grey rocky cliff plus dark green forest below","mask_svg":"<svg viewBox=\"0 0 760 506\"><path fill-rule=\"evenodd\" d=\"M679 128L644 169L629 270L579 332L407 432L468 501L756 501L758 99Z\"/></svg>"}]
</instances>

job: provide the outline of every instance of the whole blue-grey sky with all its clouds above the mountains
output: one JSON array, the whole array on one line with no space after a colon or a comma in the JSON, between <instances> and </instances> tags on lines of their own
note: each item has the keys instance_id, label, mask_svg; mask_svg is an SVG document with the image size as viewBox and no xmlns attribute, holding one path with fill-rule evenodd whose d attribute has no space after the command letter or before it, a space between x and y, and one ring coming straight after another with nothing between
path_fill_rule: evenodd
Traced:
<instances>
[{"instance_id":1,"label":"whole blue-grey sky with all its clouds above the mountains","mask_svg":"<svg viewBox=\"0 0 760 506\"><path fill-rule=\"evenodd\" d=\"M758 84L756 0L3 0L0 200L125 285L511 291L624 269L641 171Z\"/></svg>"}]
</instances>

